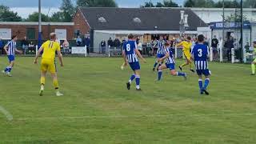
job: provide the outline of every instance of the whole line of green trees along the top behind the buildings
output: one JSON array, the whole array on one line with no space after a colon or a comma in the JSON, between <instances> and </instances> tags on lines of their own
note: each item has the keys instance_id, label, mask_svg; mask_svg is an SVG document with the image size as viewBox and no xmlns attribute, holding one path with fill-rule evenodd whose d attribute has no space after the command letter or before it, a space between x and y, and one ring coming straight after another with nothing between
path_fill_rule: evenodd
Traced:
<instances>
[{"instance_id":1,"label":"whole line of green trees along the top behind the buildings","mask_svg":"<svg viewBox=\"0 0 256 144\"><path fill-rule=\"evenodd\" d=\"M239 0L240 1L240 0ZM240 7L238 0L225 0L226 8ZM42 22L71 22L75 11L78 6L86 7L118 7L114 0L77 0L74 5L71 0L62 0L62 5L59 7L59 11L48 16L42 14ZM184 2L185 7L206 7L206 8L221 8L223 6L222 0L215 2L214 0L186 0ZM173 0L163 0L156 4L145 2L143 7L178 7L178 4ZM256 8L256 0L244 0L244 7ZM2 22L38 22L38 12L30 14L28 18L22 19L17 13L10 10L8 6L0 5L0 21Z\"/></svg>"}]
</instances>

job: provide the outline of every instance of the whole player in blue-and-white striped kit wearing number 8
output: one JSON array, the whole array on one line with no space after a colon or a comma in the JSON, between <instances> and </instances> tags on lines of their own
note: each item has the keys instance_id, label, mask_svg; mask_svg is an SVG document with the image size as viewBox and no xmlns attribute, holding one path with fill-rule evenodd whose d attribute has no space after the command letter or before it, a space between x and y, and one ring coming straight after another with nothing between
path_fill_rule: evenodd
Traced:
<instances>
[{"instance_id":1,"label":"whole player in blue-and-white striped kit wearing number 8","mask_svg":"<svg viewBox=\"0 0 256 144\"><path fill-rule=\"evenodd\" d=\"M134 74L131 75L129 82L126 83L127 89L130 90L130 84L135 78L136 90L141 90L139 86L141 67L138 62L138 57L141 58L143 62L146 62L146 60L142 58L142 54L140 54L138 51L133 34L129 34L128 41L123 44L122 56L125 61L125 66L127 66L129 63L131 70L134 71Z\"/></svg>"}]
</instances>

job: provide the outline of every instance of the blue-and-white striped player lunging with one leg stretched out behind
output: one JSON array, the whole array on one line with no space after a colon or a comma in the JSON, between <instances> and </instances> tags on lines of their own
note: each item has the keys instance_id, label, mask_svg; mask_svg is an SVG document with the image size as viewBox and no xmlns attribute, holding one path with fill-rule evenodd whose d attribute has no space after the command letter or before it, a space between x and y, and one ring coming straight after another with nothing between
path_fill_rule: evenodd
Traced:
<instances>
[{"instance_id":1,"label":"blue-and-white striped player lunging with one leg stretched out behind","mask_svg":"<svg viewBox=\"0 0 256 144\"><path fill-rule=\"evenodd\" d=\"M160 66L158 69L158 81L161 80L162 78L162 70L164 69L170 69L170 74L173 76L181 76L184 77L186 80L186 73L182 73L182 72L177 72L175 70L175 61L174 61L174 54L173 52L170 50L170 44L169 43L165 43L164 44L165 47L165 55L164 57L160 58L158 60L158 62L163 62L164 60L166 60L165 64L162 64L162 66Z\"/></svg>"}]
</instances>

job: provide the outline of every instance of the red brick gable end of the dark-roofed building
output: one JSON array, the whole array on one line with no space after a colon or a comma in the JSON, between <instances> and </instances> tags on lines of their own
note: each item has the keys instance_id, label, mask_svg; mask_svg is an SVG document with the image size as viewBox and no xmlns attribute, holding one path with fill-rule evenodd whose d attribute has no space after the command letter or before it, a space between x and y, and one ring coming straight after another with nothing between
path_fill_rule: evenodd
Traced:
<instances>
[{"instance_id":1,"label":"red brick gable end of the dark-roofed building","mask_svg":"<svg viewBox=\"0 0 256 144\"><path fill-rule=\"evenodd\" d=\"M74 15L74 30L80 30L81 34L90 34L90 26L86 22L81 10L78 9L77 13Z\"/></svg>"}]
</instances>

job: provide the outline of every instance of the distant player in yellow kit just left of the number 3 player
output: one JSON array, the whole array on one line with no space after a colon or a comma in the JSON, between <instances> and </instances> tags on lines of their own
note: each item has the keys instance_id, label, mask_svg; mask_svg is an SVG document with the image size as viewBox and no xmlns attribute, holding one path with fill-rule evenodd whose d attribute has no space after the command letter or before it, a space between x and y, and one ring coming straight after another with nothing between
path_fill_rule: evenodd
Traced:
<instances>
[{"instance_id":1,"label":"distant player in yellow kit just left of the number 3 player","mask_svg":"<svg viewBox=\"0 0 256 144\"><path fill-rule=\"evenodd\" d=\"M194 70L192 68L191 54L190 54L190 49L191 49L191 46L192 46L191 38L187 37L186 41L182 41L181 43L179 43L176 46L182 46L183 53L184 53L185 58L186 58L186 62L183 63L181 66L178 66L179 69L182 70L182 68L184 66L189 65L190 66L190 70L194 73Z\"/></svg>"}]
</instances>

